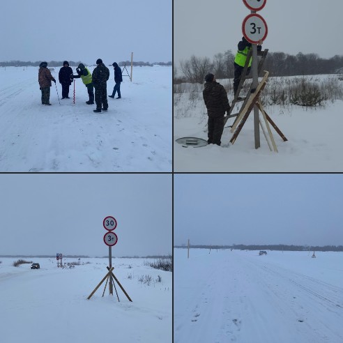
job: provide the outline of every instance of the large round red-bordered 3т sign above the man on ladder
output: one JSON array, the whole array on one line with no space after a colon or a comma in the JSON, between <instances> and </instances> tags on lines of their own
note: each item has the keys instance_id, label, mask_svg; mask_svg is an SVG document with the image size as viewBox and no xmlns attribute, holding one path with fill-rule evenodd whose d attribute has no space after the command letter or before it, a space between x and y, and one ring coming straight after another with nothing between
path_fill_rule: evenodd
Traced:
<instances>
[{"instance_id":1,"label":"large round red-bordered 3\u0442 sign above the man on ladder","mask_svg":"<svg viewBox=\"0 0 343 343\"><path fill-rule=\"evenodd\" d=\"M256 13L247 15L242 23L242 32L248 42L257 44L265 40L268 34L266 20Z\"/></svg>"}]
</instances>

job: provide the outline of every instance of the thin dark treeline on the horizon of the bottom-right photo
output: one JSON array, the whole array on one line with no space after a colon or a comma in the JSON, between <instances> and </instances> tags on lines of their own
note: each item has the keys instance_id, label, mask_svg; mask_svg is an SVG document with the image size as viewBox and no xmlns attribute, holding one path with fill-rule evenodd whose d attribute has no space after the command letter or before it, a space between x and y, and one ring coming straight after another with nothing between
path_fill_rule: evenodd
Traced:
<instances>
[{"instance_id":1,"label":"thin dark treeline on the horizon of the bottom-right photo","mask_svg":"<svg viewBox=\"0 0 343 343\"><path fill-rule=\"evenodd\" d=\"M187 248L186 245L174 245L174 247ZM337 251L343 252L343 245L324 245L323 247L309 245L190 245L198 249L235 249L235 250L284 250L284 251Z\"/></svg>"}]
</instances>

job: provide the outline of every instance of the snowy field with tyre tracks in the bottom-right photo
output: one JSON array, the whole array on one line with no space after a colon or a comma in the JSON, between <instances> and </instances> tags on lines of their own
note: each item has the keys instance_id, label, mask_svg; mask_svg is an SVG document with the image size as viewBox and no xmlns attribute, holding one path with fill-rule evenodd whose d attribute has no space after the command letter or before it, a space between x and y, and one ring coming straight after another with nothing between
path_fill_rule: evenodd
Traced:
<instances>
[{"instance_id":1,"label":"snowy field with tyre tracks in the bottom-right photo","mask_svg":"<svg viewBox=\"0 0 343 343\"><path fill-rule=\"evenodd\" d=\"M174 249L175 343L343 342L343 253Z\"/></svg>"}]
</instances>

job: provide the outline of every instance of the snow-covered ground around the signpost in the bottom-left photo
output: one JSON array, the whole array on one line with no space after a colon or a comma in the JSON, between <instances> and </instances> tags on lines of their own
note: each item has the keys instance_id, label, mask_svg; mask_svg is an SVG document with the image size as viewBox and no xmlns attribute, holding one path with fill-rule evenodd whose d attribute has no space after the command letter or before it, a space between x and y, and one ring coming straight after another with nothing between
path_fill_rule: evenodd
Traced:
<instances>
[{"instance_id":1,"label":"snow-covered ground around the signpost in the bottom-left photo","mask_svg":"<svg viewBox=\"0 0 343 343\"><path fill-rule=\"evenodd\" d=\"M82 259L90 264L64 269L56 259L13 267L15 258L0 258L0 342L172 342L172 273L144 266L144 259L113 259L119 300L105 296L108 259ZM63 259L71 262L74 259ZM151 260L153 261L153 260ZM151 276L151 284L139 282ZM161 281L158 282L158 275Z\"/></svg>"}]
</instances>

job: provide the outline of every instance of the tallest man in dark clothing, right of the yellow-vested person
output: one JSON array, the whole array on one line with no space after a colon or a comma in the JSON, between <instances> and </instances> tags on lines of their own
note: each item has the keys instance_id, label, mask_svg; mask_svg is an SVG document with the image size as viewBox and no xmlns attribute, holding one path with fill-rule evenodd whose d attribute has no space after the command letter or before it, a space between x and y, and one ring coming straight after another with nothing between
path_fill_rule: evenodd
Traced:
<instances>
[{"instance_id":1,"label":"tallest man in dark clothing, right of the yellow-vested person","mask_svg":"<svg viewBox=\"0 0 343 343\"><path fill-rule=\"evenodd\" d=\"M102 59L96 60L96 68L93 70L92 79L96 89L96 109L93 112L101 112L101 105L104 111L108 109L107 102L107 80L109 79L109 69L102 63Z\"/></svg>"}]
</instances>

